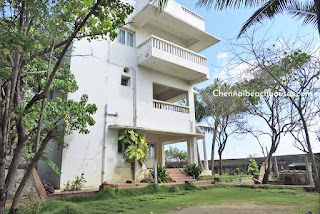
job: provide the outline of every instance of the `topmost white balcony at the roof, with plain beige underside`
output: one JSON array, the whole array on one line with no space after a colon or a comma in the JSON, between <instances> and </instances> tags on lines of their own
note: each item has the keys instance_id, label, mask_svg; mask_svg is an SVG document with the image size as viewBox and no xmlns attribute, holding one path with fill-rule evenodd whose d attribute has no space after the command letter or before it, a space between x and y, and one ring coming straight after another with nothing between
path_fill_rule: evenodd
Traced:
<instances>
[{"instance_id":1,"label":"topmost white balcony at the roof, with plain beige underside","mask_svg":"<svg viewBox=\"0 0 320 214\"><path fill-rule=\"evenodd\" d=\"M156 13L157 1L138 0L137 13L130 23L138 28L156 28L173 35L189 50L200 52L219 42L219 39L205 32L204 18L188 8L169 0L161 13Z\"/></svg>"}]
</instances>

